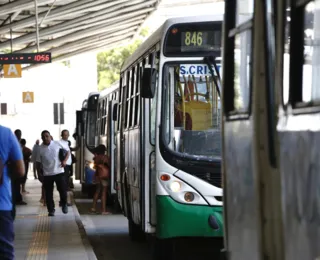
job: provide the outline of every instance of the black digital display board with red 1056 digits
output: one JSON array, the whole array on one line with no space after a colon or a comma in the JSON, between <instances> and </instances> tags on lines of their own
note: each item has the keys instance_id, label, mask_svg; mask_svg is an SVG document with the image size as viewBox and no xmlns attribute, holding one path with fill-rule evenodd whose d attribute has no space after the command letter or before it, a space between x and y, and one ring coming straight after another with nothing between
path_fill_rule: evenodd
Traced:
<instances>
[{"instance_id":1,"label":"black digital display board with red 1056 digits","mask_svg":"<svg viewBox=\"0 0 320 260\"><path fill-rule=\"evenodd\" d=\"M50 52L0 54L0 64L51 63Z\"/></svg>"}]
</instances>

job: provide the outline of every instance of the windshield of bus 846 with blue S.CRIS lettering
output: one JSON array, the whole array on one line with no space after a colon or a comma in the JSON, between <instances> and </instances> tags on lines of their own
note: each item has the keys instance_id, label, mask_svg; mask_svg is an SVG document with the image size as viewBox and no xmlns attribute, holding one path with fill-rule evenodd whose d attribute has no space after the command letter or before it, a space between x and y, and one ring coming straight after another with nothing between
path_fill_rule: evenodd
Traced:
<instances>
[{"instance_id":1,"label":"windshield of bus 846 with blue S.CRIS lettering","mask_svg":"<svg viewBox=\"0 0 320 260\"><path fill-rule=\"evenodd\" d=\"M165 143L183 155L220 157L220 97L208 65L170 64L164 71Z\"/></svg>"}]
</instances>

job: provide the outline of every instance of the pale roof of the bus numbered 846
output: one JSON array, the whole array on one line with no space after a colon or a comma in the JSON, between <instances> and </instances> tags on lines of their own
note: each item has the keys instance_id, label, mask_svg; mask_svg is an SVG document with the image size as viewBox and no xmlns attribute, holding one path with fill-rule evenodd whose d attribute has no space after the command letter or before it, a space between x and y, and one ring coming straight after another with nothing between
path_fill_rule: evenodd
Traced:
<instances>
[{"instance_id":1,"label":"pale roof of the bus numbered 846","mask_svg":"<svg viewBox=\"0 0 320 260\"><path fill-rule=\"evenodd\" d=\"M214 22L223 21L223 15L204 15L204 16L186 16L176 17L166 20L153 34L151 34L147 40L145 40L139 48L128 58L122 65L121 73L135 63L141 56L146 53L156 43L161 42L164 33L169 29L170 26L177 23L188 23L188 22ZM161 46L162 48L162 46Z\"/></svg>"}]
</instances>

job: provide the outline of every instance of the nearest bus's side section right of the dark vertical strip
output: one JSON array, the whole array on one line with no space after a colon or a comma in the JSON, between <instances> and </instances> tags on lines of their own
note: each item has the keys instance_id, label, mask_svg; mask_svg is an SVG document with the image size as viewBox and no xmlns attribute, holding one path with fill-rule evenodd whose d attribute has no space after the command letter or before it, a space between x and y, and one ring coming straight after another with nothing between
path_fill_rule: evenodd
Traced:
<instances>
[{"instance_id":1,"label":"nearest bus's side section right of the dark vertical strip","mask_svg":"<svg viewBox=\"0 0 320 260\"><path fill-rule=\"evenodd\" d=\"M277 82L283 86L277 125L283 259L320 259L320 1L283 6L290 10L281 27L283 78Z\"/></svg>"}]
</instances>

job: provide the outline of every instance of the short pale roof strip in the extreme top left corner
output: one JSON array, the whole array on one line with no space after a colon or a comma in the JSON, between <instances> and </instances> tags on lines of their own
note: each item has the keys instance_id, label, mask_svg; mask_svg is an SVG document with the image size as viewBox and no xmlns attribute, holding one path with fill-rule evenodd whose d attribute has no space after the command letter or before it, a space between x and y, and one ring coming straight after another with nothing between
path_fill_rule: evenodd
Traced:
<instances>
[{"instance_id":1,"label":"short pale roof strip in the extreme top left corner","mask_svg":"<svg viewBox=\"0 0 320 260\"><path fill-rule=\"evenodd\" d=\"M38 0L38 5L51 4L54 0ZM63 1L63 0L61 0ZM8 4L0 5L0 16L12 14L21 10L33 9L33 0L19 0Z\"/></svg>"}]
</instances>

